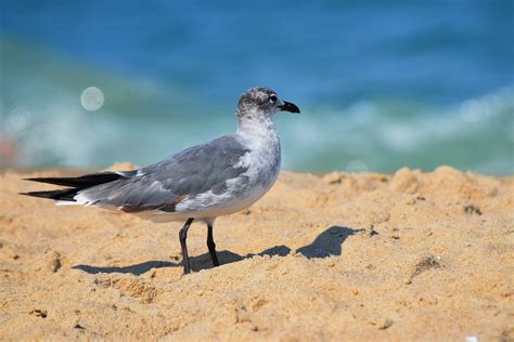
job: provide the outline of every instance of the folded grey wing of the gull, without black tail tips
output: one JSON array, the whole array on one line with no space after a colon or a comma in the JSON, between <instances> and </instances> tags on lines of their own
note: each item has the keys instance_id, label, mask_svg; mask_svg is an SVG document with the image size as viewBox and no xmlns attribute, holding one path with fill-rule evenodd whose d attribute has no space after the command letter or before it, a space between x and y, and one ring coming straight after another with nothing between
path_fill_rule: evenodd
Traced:
<instances>
[{"instance_id":1,"label":"folded grey wing of the gull, without black tail tips","mask_svg":"<svg viewBox=\"0 0 514 342\"><path fill-rule=\"evenodd\" d=\"M185 197L221 193L228 180L246 172L247 168L237 163L247 152L233 135L224 135L142 168L128 179L88 188L79 197L91 205L129 212L175 211Z\"/></svg>"}]
</instances>

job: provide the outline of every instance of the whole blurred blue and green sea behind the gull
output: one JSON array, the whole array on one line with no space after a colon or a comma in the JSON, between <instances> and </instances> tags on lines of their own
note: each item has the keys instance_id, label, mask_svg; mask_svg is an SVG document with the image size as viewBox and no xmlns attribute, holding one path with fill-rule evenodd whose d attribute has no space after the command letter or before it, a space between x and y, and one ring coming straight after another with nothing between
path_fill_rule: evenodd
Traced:
<instances>
[{"instance_id":1,"label":"whole blurred blue and green sea behind the gull","mask_svg":"<svg viewBox=\"0 0 514 342\"><path fill-rule=\"evenodd\" d=\"M274 89L283 168L514 173L514 1L1 0L0 166L147 165Z\"/></svg>"}]
</instances>

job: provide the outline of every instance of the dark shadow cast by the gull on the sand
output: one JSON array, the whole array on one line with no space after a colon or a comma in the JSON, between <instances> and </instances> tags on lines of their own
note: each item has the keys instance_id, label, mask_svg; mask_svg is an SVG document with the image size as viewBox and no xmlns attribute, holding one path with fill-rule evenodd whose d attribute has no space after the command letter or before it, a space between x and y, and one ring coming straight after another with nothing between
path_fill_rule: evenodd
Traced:
<instances>
[{"instance_id":1,"label":"dark shadow cast by the gull on the sand","mask_svg":"<svg viewBox=\"0 0 514 342\"><path fill-rule=\"evenodd\" d=\"M318 235L318 237L307 246L300 247L296 250L296 253L303 254L307 259L314 259L314 258L329 258L332 255L340 255L343 252L343 244L350 235L355 235L357 233L361 233L363 229L354 229L348 227L342 226L331 226L326 228L323 233ZM233 253L231 251L219 251L218 259L220 264L230 264L233 262L237 262L244 259L254 258L257 255L264 256L285 256L291 253L291 248L287 246L274 246L269 249L261 251L260 253L250 253L246 255L240 255ZM210 262L209 253L204 253L196 256L190 256L191 261L191 268L193 271L201 271L205 268L213 267ZM123 273L123 274L133 274L133 275L141 275L143 273L149 272L152 268L163 268L163 267L182 267L182 263L180 262L170 262L170 261L146 261L136 265L129 266L111 266L111 267L99 267L99 266L91 266L91 265L76 265L72 266L72 268L80 269L89 274L99 274L99 273Z\"/></svg>"}]
</instances>

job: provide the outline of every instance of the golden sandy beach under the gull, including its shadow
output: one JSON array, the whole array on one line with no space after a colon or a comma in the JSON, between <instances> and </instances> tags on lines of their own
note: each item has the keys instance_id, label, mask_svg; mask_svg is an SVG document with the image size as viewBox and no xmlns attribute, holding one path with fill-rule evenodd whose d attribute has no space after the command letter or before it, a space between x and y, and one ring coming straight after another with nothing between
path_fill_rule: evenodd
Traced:
<instances>
[{"instance_id":1,"label":"golden sandy beach under the gull, including its shadow","mask_svg":"<svg viewBox=\"0 0 514 342\"><path fill-rule=\"evenodd\" d=\"M514 339L514 177L283 172L206 227L16 195L0 179L0 340ZM69 174L69 173L67 173Z\"/></svg>"}]
</instances>

